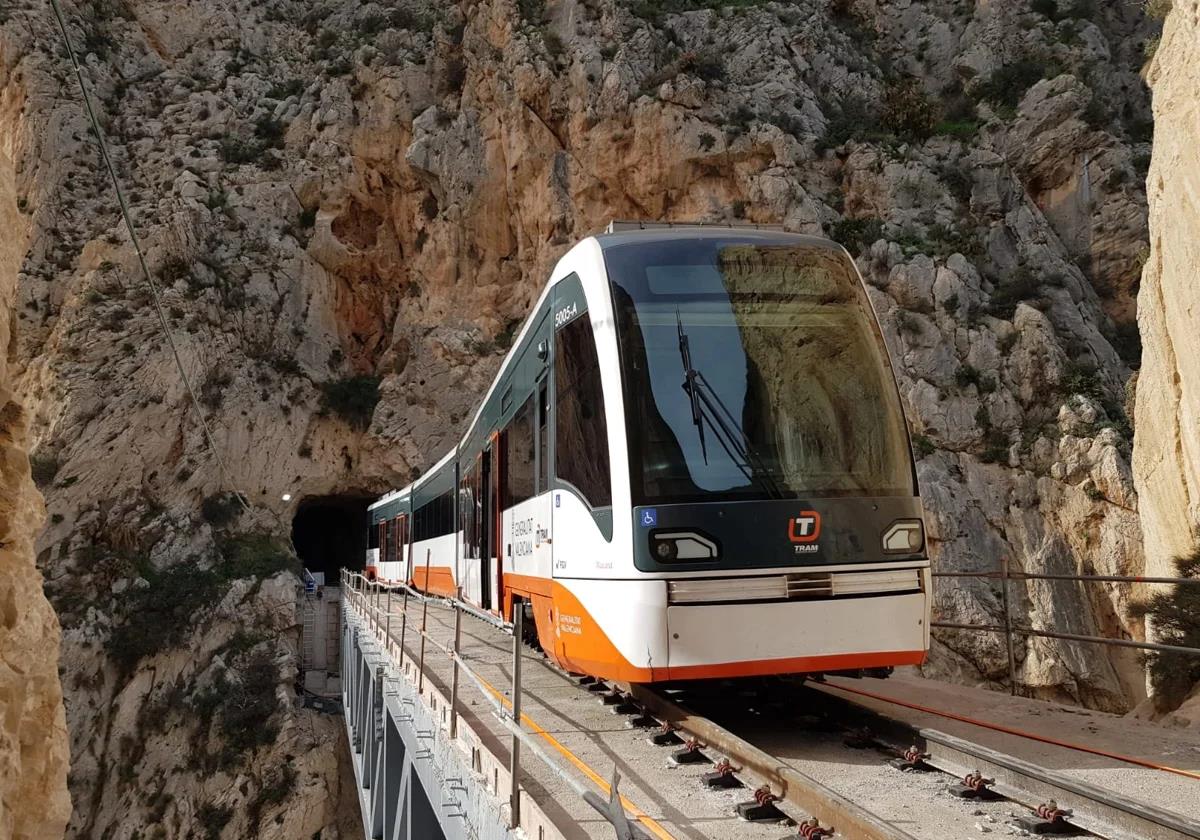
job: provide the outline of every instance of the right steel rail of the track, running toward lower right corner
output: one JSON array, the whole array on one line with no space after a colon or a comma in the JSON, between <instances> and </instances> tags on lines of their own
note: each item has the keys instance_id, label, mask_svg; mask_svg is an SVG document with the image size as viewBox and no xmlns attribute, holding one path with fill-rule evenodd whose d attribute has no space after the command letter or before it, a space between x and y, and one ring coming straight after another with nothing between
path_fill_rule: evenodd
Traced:
<instances>
[{"instance_id":1,"label":"right steel rail of the track, running toward lower right corner","mask_svg":"<svg viewBox=\"0 0 1200 840\"><path fill-rule=\"evenodd\" d=\"M1200 822L1182 814L1134 802L1109 788L1098 787L1080 779L1048 769L991 748L958 738L941 730L922 728L889 716L875 706L853 697L834 694L836 685L809 683L806 688L820 692L836 703L853 707L857 712L878 721L875 732L888 730L893 739L875 736L876 740L894 751L917 744L929 755L925 763L949 775L961 779L973 770L995 779L991 788L1001 796L1036 811L1038 805L1051 799L1060 806L1070 809L1068 822L1106 840L1200 840Z\"/></svg>"}]
</instances>

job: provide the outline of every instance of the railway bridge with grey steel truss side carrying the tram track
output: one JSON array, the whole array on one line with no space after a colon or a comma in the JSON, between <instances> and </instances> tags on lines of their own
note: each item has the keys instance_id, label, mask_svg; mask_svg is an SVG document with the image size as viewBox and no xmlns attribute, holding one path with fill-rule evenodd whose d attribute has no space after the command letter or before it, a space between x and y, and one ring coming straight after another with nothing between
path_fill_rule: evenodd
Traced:
<instances>
[{"instance_id":1,"label":"railway bridge with grey steel truss side carrying the tram track","mask_svg":"<svg viewBox=\"0 0 1200 840\"><path fill-rule=\"evenodd\" d=\"M610 685L403 586L342 570L341 605L365 838L1200 838L1200 736L961 686L930 701L916 678Z\"/></svg>"}]
</instances>

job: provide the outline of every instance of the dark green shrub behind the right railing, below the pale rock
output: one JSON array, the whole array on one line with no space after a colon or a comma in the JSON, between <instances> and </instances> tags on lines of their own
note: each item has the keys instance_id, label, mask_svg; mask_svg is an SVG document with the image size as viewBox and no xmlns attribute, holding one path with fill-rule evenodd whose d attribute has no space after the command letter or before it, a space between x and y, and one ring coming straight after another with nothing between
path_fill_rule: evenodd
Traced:
<instances>
[{"instance_id":1,"label":"dark green shrub behind the right railing, below the pale rock","mask_svg":"<svg viewBox=\"0 0 1200 840\"><path fill-rule=\"evenodd\" d=\"M1172 562L1180 577L1200 577L1200 548ZM1170 592L1158 592L1130 605L1133 618L1148 618L1163 644L1200 648L1200 586L1176 583ZM1178 707L1200 682L1200 656L1182 652L1146 654L1154 706L1166 712Z\"/></svg>"}]
</instances>

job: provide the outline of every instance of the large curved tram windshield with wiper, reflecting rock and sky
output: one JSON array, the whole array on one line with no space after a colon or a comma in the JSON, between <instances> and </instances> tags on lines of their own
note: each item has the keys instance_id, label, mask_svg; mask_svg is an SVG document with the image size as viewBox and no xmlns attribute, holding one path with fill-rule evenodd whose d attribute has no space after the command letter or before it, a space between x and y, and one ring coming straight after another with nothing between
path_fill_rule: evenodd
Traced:
<instances>
[{"instance_id":1,"label":"large curved tram windshield with wiper, reflecting rock and sky","mask_svg":"<svg viewBox=\"0 0 1200 840\"><path fill-rule=\"evenodd\" d=\"M913 494L895 380L841 252L731 236L605 258L635 504Z\"/></svg>"}]
</instances>

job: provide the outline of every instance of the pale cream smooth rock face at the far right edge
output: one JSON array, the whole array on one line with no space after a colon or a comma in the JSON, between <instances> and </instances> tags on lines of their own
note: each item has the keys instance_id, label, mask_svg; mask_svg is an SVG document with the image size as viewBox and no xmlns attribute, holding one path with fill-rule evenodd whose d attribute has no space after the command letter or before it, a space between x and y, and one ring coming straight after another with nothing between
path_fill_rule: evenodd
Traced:
<instances>
[{"instance_id":1,"label":"pale cream smooth rock face at the far right edge","mask_svg":"<svg viewBox=\"0 0 1200 840\"><path fill-rule=\"evenodd\" d=\"M1176 0L1147 71L1154 90L1150 259L1138 293L1134 479L1146 569L1200 546L1200 2Z\"/></svg>"}]
</instances>

